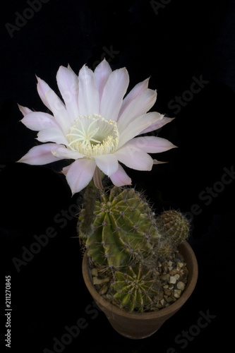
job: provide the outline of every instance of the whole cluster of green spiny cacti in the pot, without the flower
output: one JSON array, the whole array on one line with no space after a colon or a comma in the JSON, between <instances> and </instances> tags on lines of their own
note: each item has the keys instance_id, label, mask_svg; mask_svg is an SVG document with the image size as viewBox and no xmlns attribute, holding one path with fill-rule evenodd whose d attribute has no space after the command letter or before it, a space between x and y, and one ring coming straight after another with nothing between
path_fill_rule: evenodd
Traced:
<instances>
[{"instance_id":1,"label":"whole cluster of green spiny cacti in the pot, without the flower","mask_svg":"<svg viewBox=\"0 0 235 353\"><path fill-rule=\"evenodd\" d=\"M161 282L156 265L162 261L162 275L170 280L172 273L167 275L164 271L167 263L172 270L171 256L188 237L186 218L176 210L155 215L135 189L114 186L100 193L89 234L83 234L84 222L82 211L78 222L80 239L93 265L101 266L112 282L109 282L109 300L128 311L158 308L155 297L170 290L163 287L168 284ZM176 282L176 278L173 280ZM171 296L166 302L174 300Z\"/></svg>"}]
</instances>

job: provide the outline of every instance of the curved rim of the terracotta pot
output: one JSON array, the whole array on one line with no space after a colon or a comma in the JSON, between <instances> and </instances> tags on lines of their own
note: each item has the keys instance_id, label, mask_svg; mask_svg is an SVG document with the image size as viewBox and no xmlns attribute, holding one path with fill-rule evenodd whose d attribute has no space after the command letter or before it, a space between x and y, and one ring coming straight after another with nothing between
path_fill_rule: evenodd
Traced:
<instances>
[{"instance_id":1,"label":"curved rim of the terracotta pot","mask_svg":"<svg viewBox=\"0 0 235 353\"><path fill-rule=\"evenodd\" d=\"M184 289L179 299L167 306L167 308L160 309L159 311L131 313L125 309L120 309L119 307L111 304L109 301L101 297L101 295L97 292L94 285L92 284L87 253L85 253L83 256L83 279L85 281L85 285L88 287L90 294L92 295L93 299L97 301L98 305L101 304L101 306L103 306L105 309L112 311L112 313L116 315L124 316L126 318L134 318L135 320L149 320L153 318L161 318L162 316L168 316L170 313L178 311L181 306L183 306L183 304L191 296L198 280L198 261L195 257L193 249L188 244L188 241L183 241L183 243L179 245L179 251L187 254L187 258L185 258L187 265L188 262L191 261L191 270L188 270L188 281L186 284L186 289Z\"/></svg>"}]
</instances>

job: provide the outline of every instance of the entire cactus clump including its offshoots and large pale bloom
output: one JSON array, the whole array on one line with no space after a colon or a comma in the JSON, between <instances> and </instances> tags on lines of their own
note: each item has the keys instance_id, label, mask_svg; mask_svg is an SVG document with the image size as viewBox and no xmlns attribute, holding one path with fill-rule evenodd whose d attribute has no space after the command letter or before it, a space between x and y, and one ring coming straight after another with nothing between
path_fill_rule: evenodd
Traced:
<instances>
[{"instance_id":1,"label":"entire cactus clump including its offshoots and large pale bloom","mask_svg":"<svg viewBox=\"0 0 235 353\"><path fill-rule=\"evenodd\" d=\"M19 106L22 123L38 131L41 144L18 162L41 165L68 161L61 172L71 193L85 189L79 237L93 265L108 273L102 293L110 293L114 304L129 311L152 310L159 291L159 278L152 268L188 237L188 222L174 210L155 217L143 195L135 189L122 189L131 185L122 164L150 171L154 164L162 163L149 153L176 146L164 138L143 135L172 119L148 112L157 99L157 91L148 88L148 79L126 94L128 71L112 71L105 59L94 72L84 65L78 75L70 66L61 66L56 81L63 100L37 78L37 91L52 114ZM98 191L103 189L104 175L114 187Z\"/></svg>"}]
</instances>

